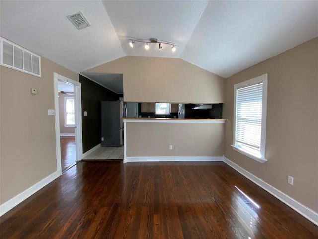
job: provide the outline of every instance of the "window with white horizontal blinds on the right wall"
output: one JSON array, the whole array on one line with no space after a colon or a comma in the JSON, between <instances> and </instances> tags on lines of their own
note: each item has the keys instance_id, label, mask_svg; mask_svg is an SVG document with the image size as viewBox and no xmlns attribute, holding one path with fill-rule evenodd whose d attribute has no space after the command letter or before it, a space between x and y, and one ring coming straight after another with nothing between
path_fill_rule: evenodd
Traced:
<instances>
[{"instance_id":1,"label":"window with white horizontal blinds on the right wall","mask_svg":"<svg viewBox=\"0 0 318 239\"><path fill-rule=\"evenodd\" d=\"M235 118L233 146L264 158L267 74L234 85Z\"/></svg>"}]
</instances>

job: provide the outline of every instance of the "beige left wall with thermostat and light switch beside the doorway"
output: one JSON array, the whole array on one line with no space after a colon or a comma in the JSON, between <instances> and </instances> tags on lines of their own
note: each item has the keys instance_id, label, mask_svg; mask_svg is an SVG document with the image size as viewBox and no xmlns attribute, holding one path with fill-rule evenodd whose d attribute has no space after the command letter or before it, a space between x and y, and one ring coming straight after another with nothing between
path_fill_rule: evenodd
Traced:
<instances>
[{"instance_id":1,"label":"beige left wall with thermostat and light switch beside the doorway","mask_svg":"<svg viewBox=\"0 0 318 239\"><path fill-rule=\"evenodd\" d=\"M42 57L42 77L0 67L0 203L12 199L57 170L53 72L79 75ZM37 88L32 95L30 88Z\"/></svg>"}]
</instances>

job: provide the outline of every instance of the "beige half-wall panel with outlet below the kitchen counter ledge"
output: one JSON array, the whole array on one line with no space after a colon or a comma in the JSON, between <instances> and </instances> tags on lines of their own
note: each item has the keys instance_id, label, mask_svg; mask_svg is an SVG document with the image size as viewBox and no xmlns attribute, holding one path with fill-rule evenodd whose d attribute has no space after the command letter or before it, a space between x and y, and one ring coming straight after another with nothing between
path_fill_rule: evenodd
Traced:
<instances>
[{"instance_id":1,"label":"beige half-wall panel with outlet below the kitchen counter ledge","mask_svg":"<svg viewBox=\"0 0 318 239\"><path fill-rule=\"evenodd\" d=\"M138 122L126 130L128 157L223 155L224 124Z\"/></svg>"}]
</instances>

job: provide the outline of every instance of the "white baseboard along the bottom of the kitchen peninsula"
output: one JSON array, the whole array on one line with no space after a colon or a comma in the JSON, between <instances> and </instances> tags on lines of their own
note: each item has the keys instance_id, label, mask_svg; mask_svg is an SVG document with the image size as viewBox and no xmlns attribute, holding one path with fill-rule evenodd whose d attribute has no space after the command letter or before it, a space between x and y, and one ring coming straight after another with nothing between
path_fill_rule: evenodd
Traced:
<instances>
[{"instance_id":1,"label":"white baseboard along the bottom of the kitchen peninsula","mask_svg":"<svg viewBox=\"0 0 318 239\"><path fill-rule=\"evenodd\" d=\"M124 163L128 162L203 162L223 161L221 157L124 157Z\"/></svg>"}]
</instances>

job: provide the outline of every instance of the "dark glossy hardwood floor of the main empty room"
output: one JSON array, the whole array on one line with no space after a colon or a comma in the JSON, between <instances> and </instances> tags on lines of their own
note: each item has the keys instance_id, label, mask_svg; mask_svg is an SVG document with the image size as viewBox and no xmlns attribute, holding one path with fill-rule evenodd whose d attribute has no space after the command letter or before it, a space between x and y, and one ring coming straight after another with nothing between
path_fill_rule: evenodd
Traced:
<instances>
[{"instance_id":1,"label":"dark glossy hardwood floor of the main empty room","mask_svg":"<svg viewBox=\"0 0 318 239\"><path fill-rule=\"evenodd\" d=\"M79 162L0 220L1 239L318 238L223 162Z\"/></svg>"}]
</instances>

